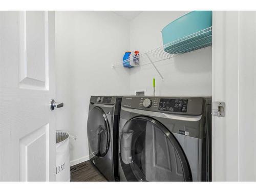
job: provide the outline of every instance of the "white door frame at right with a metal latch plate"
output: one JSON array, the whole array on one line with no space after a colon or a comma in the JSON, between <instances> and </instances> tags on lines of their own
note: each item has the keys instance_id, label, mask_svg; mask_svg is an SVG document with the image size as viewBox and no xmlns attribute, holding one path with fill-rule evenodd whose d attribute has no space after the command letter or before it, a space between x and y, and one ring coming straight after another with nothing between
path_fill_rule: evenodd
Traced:
<instances>
[{"instance_id":1,"label":"white door frame at right with a metal latch plate","mask_svg":"<svg viewBox=\"0 0 256 192\"><path fill-rule=\"evenodd\" d=\"M256 11L214 11L212 180L256 181Z\"/></svg>"}]
</instances>

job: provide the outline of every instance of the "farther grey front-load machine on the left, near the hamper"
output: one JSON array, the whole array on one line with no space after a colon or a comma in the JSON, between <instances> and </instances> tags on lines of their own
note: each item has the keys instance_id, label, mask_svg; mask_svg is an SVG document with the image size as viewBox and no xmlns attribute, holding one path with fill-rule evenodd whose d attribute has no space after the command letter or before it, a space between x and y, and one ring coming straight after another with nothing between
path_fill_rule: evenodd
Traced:
<instances>
[{"instance_id":1,"label":"farther grey front-load machine on the left, near the hamper","mask_svg":"<svg viewBox=\"0 0 256 192\"><path fill-rule=\"evenodd\" d=\"M109 181L118 180L118 129L122 97L91 96L87 121L89 157Z\"/></svg>"}]
</instances>

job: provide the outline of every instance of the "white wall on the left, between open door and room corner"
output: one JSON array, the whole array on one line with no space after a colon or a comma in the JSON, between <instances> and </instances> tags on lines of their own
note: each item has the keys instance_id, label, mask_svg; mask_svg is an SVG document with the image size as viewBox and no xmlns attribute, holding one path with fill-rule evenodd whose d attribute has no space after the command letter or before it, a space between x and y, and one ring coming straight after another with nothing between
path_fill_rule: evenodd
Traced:
<instances>
[{"instance_id":1,"label":"white wall on the left, between open door and room corner","mask_svg":"<svg viewBox=\"0 0 256 192\"><path fill-rule=\"evenodd\" d=\"M71 165L88 159L91 95L129 94L129 70L111 69L130 47L127 20L110 11L56 11L57 129L71 140Z\"/></svg>"}]
</instances>

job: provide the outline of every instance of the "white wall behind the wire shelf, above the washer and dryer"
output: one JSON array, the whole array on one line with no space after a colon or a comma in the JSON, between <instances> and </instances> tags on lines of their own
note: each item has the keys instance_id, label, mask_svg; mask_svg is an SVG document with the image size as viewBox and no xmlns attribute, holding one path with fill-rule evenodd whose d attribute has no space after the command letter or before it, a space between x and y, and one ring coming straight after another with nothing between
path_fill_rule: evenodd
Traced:
<instances>
[{"instance_id":1,"label":"white wall behind the wire shelf, above the washer and dryer","mask_svg":"<svg viewBox=\"0 0 256 192\"><path fill-rule=\"evenodd\" d=\"M131 22L131 51L141 53L162 46L162 29L188 11L143 11ZM211 95L211 47L176 56L156 63L162 81L152 65L136 67L130 72L130 94L146 90L156 95Z\"/></svg>"}]
</instances>

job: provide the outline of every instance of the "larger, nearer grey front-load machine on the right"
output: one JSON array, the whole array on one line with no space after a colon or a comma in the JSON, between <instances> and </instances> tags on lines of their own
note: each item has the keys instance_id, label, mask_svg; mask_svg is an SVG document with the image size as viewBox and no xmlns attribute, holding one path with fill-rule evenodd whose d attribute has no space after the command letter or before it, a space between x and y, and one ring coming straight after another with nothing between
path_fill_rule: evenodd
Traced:
<instances>
[{"instance_id":1,"label":"larger, nearer grey front-load machine on the right","mask_svg":"<svg viewBox=\"0 0 256 192\"><path fill-rule=\"evenodd\" d=\"M120 181L211 181L211 97L123 97Z\"/></svg>"}]
</instances>

